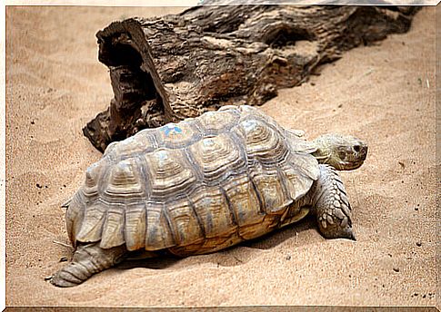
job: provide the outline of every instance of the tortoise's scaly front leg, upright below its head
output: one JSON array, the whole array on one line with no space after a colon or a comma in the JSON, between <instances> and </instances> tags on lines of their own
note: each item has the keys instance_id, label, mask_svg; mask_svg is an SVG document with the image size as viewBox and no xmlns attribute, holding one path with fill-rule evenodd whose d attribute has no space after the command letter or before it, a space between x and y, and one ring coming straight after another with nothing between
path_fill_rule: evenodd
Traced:
<instances>
[{"instance_id":1,"label":"tortoise's scaly front leg, upright below its head","mask_svg":"<svg viewBox=\"0 0 441 312\"><path fill-rule=\"evenodd\" d=\"M351 206L343 182L335 168L323 164L319 166L320 177L311 190L318 229L326 239L356 240L352 231Z\"/></svg>"}]
</instances>

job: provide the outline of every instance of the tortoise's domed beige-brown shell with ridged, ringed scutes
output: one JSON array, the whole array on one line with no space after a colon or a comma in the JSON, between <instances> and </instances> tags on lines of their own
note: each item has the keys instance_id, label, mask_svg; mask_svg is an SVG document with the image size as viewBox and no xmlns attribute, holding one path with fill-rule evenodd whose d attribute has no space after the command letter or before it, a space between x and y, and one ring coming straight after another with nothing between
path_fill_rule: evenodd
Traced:
<instances>
[{"instance_id":1,"label":"tortoise's domed beige-brown shell with ridged, ringed scutes","mask_svg":"<svg viewBox=\"0 0 441 312\"><path fill-rule=\"evenodd\" d=\"M143 130L87 169L66 211L69 238L176 255L254 239L318 178L311 151L246 105Z\"/></svg>"}]
</instances>

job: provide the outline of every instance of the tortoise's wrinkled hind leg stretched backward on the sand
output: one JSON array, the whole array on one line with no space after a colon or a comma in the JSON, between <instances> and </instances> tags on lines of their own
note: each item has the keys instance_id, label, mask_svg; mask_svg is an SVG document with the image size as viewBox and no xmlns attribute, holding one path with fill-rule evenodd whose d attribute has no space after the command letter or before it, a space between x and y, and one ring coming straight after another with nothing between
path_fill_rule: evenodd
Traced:
<instances>
[{"instance_id":1,"label":"tortoise's wrinkled hind leg stretched backward on the sand","mask_svg":"<svg viewBox=\"0 0 441 312\"><path fill-rule=\"evenodd\" d=\"M73 287L93 274L115 266L125 258L126 254L125 245L102 249L99 247L99 242L81 244L76 248L72 262L56 272L50 282L61 288Z\"/></svg>"}]
</instances>

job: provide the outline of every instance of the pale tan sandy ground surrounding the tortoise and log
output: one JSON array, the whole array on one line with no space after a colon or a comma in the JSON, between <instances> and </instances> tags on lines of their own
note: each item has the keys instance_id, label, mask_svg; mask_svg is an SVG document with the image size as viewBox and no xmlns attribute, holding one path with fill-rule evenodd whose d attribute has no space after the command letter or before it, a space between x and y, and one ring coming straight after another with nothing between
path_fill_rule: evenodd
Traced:
<instances>
[{"instance_id":1,"label":"pale tan sandy ground surrounding the tortoise and log","mask_svg":"<svg viewBox=\"0 0 441 312\"><path fill-rule=\"evenodd\" d=\"M113 93L95 33L115 19L174 8L9 7L6 18L6 305L435 306L435 8L282 90L263 110L303 129L369 142L342 174L357 241L311 220L211 255L108 269L75 288L45 281L71 256L59 208L101 157L81 128Z\"/></svg>"}]
</instances>

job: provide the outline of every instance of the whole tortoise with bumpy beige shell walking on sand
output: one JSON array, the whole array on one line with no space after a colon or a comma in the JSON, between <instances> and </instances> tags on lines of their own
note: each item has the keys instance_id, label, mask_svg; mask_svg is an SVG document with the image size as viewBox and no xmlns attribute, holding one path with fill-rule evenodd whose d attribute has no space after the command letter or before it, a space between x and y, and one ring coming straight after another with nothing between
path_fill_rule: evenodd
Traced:
<instances>
[{"instance_id":1,"label":"whole tortoise with bumpy beige shell walking on sand","mask_svg":"<svg viewBox=\"0 0 441 312\"><path fill-rule=\"evenodd\" d=\"M75 253L50 281L75 286L136 250L215 252L308 213L325 238L355 239L336 170L358 168L366 152L351 136L306 141L247 105L137 132L111 143L65 204Z\"/></svg>"}]
</instances>

